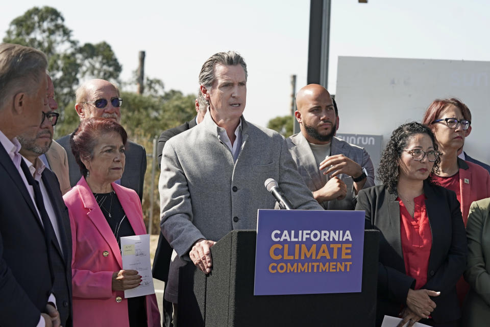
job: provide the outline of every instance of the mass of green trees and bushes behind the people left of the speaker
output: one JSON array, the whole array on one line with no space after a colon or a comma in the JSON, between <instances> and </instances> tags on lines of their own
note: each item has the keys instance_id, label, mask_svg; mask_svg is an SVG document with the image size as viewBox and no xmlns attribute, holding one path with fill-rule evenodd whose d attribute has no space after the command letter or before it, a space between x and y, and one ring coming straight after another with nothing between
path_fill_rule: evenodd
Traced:
<instances>
[{"instance_id":1,"label":"mass of green trees and bushes behind the people left of the speaker","mask_svg":"<svg viewBox=\"0 0 490 327\"><path fill-rule=\"evenodd\" d=\"M72 38L72 31L64 24L63 15L51 7L34 7L10 22L4 42L32 46L48 57L48 70L55 86L60 120L55 127L54 138L67 135L80 123L75 111L75 89L80 81L101 78L121 84L119 64L111 46L103 41L97 44L79 45ZM136 77L135 77L136 80ZM158 233L160 221L158 195L158 162L156 163L155 188L152 184L153 140L163 130L176 127L195 116L195 95L184 96L181 91L164 92L164 84L158 78L145 78L145 94L121 92L121 124L131 141L142 145L148 155L144 180L142 208L148 225L150 199L153 208L153 232ZM128 85L134 85L131 81Z\"/></svg>"}]
</instances>

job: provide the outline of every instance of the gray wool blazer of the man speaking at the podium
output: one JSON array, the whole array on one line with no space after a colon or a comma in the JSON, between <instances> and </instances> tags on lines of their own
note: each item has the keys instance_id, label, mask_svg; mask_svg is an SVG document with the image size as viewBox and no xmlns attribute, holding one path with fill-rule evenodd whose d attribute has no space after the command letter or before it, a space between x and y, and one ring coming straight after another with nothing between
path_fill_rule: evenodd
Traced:
<instances>
[{"instance_id":1,"label":"gray wool blazer of the man speaking at the podium","mask_svg":"<svg viewBox=\"0 0 490 327\"><path fill-rule=\"evenodd\" d=\"M323 209L298 174L284 138L241 120L236 162L209 113L163 147L160 225L181 257L199 239L218 241L233 229L256 229L257 209L273 209L276 202L264 187L267 178L279 183L296 208Z\"/></svg>"}]
</instances>

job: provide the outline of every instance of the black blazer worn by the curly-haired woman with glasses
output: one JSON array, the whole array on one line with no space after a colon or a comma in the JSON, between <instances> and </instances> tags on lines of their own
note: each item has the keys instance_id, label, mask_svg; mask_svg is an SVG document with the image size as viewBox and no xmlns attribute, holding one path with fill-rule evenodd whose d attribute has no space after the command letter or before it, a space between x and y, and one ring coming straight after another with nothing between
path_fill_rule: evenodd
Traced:
<instances>
[{"instance_id":1,"label":"black blazer worn by the curly-haired woman with glasses","mask_svg":"<svg viewBox=\"0 0 490 327\"><path fill-rule=\"evenodd\" d=\"M440 291L432 300L437 307L431 316L436 322L460 317L456 282L466 267L467 241L456 194L424 182L425 205L432 233L427 283L422 288ZM383 315L398 316L405 305L408 289L415 279L405 272L400 236L398 195L384 185L359 191L356 210L364 210L366 229L380 231L378 264L377 324Z\"/></svg>"}]
</instances>

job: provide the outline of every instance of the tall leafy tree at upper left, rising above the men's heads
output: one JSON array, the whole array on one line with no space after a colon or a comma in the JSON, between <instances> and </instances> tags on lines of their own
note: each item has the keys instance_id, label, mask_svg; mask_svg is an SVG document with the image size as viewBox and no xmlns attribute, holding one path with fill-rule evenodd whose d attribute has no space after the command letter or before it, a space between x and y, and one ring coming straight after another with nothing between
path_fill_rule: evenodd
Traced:
<instances>
[{"instance_id":1,"label":"tall leafy tree at upper left, rising above the men's heads","mask_svg":"<svg viewBox=\"0 0 490 327\"><path fill-rule=\"evenodd\" d=\"M61 121L64 108L75 99L80 79L103 78L117 81L121 65L111 46L79 42L72 38L63 15L52 7L34 7L10 22L3 41L32 46L48 58L48 71L55 85Z\"/></svg>"}]
</instances>

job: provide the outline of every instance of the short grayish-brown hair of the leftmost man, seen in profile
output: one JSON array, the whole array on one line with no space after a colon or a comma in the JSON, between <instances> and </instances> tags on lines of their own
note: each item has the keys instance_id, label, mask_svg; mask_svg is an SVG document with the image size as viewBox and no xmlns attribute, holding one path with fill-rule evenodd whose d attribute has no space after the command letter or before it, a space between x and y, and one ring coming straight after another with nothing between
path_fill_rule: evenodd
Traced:
<instances>
[{"instance_id":1,"label":"short grayish-brown hair of the leftmost man, seen in profile","mask_svg":"<svg viewBox=\"0 0 490 327\"><path fill-rule=\"evenodd\" d=\"M32 94L39 79L45 77L46 68L47 58L41 51L19 44L0 44L0 109L12 94Z\"/></svg>"}]
</instances>

